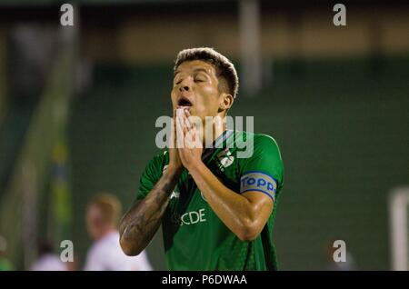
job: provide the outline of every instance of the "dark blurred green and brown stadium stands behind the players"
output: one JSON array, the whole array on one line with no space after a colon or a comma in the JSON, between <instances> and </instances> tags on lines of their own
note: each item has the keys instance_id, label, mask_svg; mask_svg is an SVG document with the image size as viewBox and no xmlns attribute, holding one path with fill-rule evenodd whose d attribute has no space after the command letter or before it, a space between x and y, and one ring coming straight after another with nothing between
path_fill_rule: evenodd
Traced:
<instances>
[{"instance_id":1,"label":"dark blurred green and brown stadium stands behind the players","mask_svg":"<svg viewBox=\"0 0 409 289\"><path fill-rule=\"evenodd\" d=\"M74 27L60 25L64 2L31 3L0 1L0 234L17 269L39 237L73 240L81 268L87 202L132 204L155 119L171 113L175 55L202 45L239 69L232 115L254 115L282 150L281 269L328 269L335 239L358 269L393 268L388 202L409 184L407 2L342 2L335 26L336 2L78 0ZM165 269L161 234L147 253Z\"/></svg>"}]
</instances>

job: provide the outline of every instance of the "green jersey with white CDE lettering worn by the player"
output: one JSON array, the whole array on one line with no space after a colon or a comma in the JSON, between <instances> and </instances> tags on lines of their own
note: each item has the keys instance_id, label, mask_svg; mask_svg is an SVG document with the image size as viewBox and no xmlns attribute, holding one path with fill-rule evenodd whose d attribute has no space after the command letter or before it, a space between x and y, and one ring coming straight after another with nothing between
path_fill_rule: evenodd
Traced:
<instances>
[{"instance_id":1,"label":"green jersey with white CDE lettering worn by the player","mask_svg":"<svg viewBox=\"0 0 409 289\"><path fill-rule=\"evenodd\" d=\"M244 157L244 144L253 154ZM283 188L283 160L268 135L226 130L205 149L206 166L237 194L266 194L274 202L263 231L254 241L241 241L214 214L194 179L184 170L170 195L162 219L166 263L170 270L276 270L273 244L274 215ZM169 154L156 155L146 166L137 199L145 198L169 164Z\"/></svg>"}]
</instances>

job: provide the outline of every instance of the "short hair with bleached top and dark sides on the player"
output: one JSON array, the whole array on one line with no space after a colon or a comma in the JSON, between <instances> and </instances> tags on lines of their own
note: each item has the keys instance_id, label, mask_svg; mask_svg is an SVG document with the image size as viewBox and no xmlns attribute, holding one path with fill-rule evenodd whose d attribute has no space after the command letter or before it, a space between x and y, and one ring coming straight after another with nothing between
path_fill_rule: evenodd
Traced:
<instances>
[{"instance_id":1,"label":"short hair with bleached top and dark sides on the player","mask_svg":"<svg viewBox=\"0 0 409 289\"><path fill-rule=\"evenodd\" d=\"M214 65L217 76L224 78L228 85L228 93L235 98L239 85L238 76L233 63L227 59L227 57L209 47L184 49L177 54L174 73L179 65L186 61L193 60L203 60L211 65Z\"/></svg>"}]
</instances>

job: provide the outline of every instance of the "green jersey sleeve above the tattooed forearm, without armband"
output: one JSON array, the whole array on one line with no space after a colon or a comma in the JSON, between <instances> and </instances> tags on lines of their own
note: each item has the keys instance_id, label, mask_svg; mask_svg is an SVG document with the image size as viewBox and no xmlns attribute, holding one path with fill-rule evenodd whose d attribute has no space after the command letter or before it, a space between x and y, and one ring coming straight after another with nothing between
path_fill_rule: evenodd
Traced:
<instances>
[{"instance_id":1,"label":"green jersey sleeve above the tattooed forearm, without armband","mask_svg":"<svg viewBox=\"0 0 409 289\"><path fill-rule=\"evenodd\" d=\"M159 181L162 176L166 159L168 158L167 151L161 154L157 154L150 162L146 165L144 173L142 173L139 179L139 190L136 194L136 200L142 200L145 198Z\"/></svg>"}]
</instances>

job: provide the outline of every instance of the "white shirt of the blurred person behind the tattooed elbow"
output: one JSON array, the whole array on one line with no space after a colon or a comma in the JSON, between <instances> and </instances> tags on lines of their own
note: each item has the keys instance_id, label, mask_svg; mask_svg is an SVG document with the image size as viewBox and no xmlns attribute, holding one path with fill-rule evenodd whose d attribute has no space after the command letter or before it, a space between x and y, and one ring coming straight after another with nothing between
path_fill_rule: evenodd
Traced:
<instances>
[{"instance_id":1,"label":"white shirt of the blurred person behind the tattooed elbow","mask_svg":"<svg viewBox=\"0 0 409 289\"><path fill-rule=\"evenodd\" d=\"M106 234L91 246L86 256L85 271L152 271L145 251L127 256L119 244L117 231Z\"/></svg>"}]
</instances>

